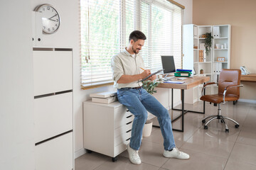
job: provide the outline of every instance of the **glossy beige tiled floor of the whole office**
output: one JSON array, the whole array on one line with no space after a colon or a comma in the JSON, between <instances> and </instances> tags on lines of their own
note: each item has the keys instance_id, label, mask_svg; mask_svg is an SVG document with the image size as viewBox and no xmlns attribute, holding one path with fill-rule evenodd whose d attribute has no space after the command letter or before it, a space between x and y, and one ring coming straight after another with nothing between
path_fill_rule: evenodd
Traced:
<instances>
[{"instance_id":1,"label":"glossy beige tiled floor of the whole office","mask_svg":"<svg viewBox=\"0 0 256 170\"><path fill-rule=\"evenodd\" d=\"M203 102L186 105L187 109L200 110ZM199 109L198 109L199 108ZM92 152L75 159L75 170L113 170L113 169L256 169L256 105L238 102L222 105L222 114L240 123L238 129L228 121L229 133L225 133L223 123L213 120L208 130L203 129L201 120L208 115L217 113L218 107L206 103L206 115L187 113L185 115L185 132L174 132L176 147L190 154L188 160L168 159L163 154L163 137L159 128L153 128L151 136L144 137L139 155L142 164L129 162L127 151L112 162L110 157ZM171 114L175 118L177 112ZM173 123L180 128L181 121Z\"/></svg>"}]
</instances>

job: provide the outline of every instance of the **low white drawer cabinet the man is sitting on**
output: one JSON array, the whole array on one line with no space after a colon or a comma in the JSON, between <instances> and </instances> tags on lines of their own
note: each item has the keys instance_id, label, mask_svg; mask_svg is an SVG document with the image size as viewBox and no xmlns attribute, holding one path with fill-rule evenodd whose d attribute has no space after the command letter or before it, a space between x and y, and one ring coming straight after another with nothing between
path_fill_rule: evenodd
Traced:
<instances>
[{"instance_id":1,"label":"low white drawer cabinet the man is sitting on","mask_svg":"<svg viewBox=\"0 0 256 170\"><path fill-rule=\"evenodd\" d=\"M118 101L110 104L83 103L85 149L117 157L131 137L134 115Z\"/></svg>"}]
</instances>

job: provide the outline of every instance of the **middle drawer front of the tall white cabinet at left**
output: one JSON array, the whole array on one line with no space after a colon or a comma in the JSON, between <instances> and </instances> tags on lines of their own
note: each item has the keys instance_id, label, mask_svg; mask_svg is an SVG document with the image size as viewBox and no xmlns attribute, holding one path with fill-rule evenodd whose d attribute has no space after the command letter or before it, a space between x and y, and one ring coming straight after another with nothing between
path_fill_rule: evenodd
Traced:
<instances>
[{"instance_id":1,"label":"middle drawer front of the tall white cabinet at left","mask_svg":"<svg viewBox=\"0 0 256 170\"><path fill-rule=\"evenodd\" d=\"M72 98L70 92L34 100L36 142L73 129Z\"/></svg>"}]
</instances>

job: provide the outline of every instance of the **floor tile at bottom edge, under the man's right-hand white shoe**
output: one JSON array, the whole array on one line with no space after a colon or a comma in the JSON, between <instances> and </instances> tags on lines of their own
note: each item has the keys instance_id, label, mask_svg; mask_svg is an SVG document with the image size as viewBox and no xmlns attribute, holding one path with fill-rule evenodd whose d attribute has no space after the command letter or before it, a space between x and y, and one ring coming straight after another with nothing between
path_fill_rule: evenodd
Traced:
<instances>
[{"instance_id":1,"label":"floor tile at bottom edge, under the man's right-hand white shoe","mask_svg":"<svg viewBox=\"0 0 256 170\"><path fill-rule=\"evenodd\" d=\"M162 168L164 169L190 169L190 170L222 170L227 162L226 158L217 157L210 154L196 152L190 149L183 149L190 155L189 159L169 159Z\"/></svg>"}]
</instances>

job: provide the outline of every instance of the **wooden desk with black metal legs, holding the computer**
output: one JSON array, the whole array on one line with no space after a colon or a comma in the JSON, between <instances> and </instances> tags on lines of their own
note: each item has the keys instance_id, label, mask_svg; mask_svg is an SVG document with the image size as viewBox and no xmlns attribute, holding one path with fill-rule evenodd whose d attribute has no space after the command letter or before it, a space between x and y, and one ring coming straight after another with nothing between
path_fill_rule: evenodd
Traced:
<instances>
[{"instance_id":1,"label":"wooden desk with black metal legs, holding the computer","mask_svg":"<svg viewBox=\"0 0 256 170\"><path fill-rule=\"evenodd\" d=\"M181 130L178 129L174 129L175 131L178 132L184 132L184 115L188 112L192 112L192 113L201 113L201 114L205 114L206 112L206 102L203 101L203 112L198 112L198 111L188 111L184 109L184 90L186 89L191 89L194 86L198 86L199 84L205 84L206 81L210 80L210 77L193 77L193 78L188 78L188 79L183 79L183 80L177 80L177 78L171 79L173 81L185 81L185 83L183 84L169 84L169 83L161 83L159 84L157 87L159 88L167 88L167 89L171 89L171 110L174 111L181 111L181 115L179 115L177 118L175 118L174 120L171 120L171 122L174 122L176 120L178 120L178 118L182 117L182 128ZM181 106L182 109L177 109L174 108L174 89L181 89ZM206 92L204 91L204 94Z\"/></svg>"}]
</instances>

